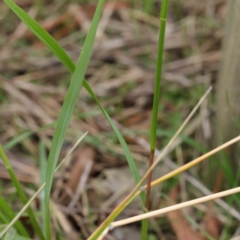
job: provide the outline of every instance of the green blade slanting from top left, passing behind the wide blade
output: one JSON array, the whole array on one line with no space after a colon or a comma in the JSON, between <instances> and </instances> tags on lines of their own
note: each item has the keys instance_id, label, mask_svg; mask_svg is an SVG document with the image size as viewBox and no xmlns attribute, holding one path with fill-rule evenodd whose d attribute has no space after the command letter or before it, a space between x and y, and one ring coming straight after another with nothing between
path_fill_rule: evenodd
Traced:
<instances>
[{"instance_id":1,"label":"green blade slanting from top left, passing behind the wide blade","mask_svg":"<svg viewBox=\"0 0 240 240\"><path fill-rule=\"evenodd\" d=\"M53 52L53 54L73 73L75 70L75 65L70 59L70 57L66 54L66 52L63 50L63 48L58 44L58 42L52 38L52 36L42 28L41 25L39 25L35 20L33 20L26 12L24 12L21 8L19 8L15 3L12 2L12 0L4 0L5 3L14 11L14 13L28 26L28 28ZM31 19L31 21L27 21L28 19ZM31 24L29 24L31 22ZM138 169L136 167L136 164L131 156L131 153L128 149L128 146L122 137L121 133L109 117L108 113L105 111L105 109L102 107L100 101L98 100L97 96L94 94L93 90L89 86L86 79L83 81L84 88L88 91L88 93L91 95L91 97L95 100L99 108L101 109L102 113L108 120L109 124L111 125L113 131L115 132L123 150L125 153L125 156L127 158L128 164L130 166L130 169L132 171L132 175L134 176L134 179L136 182L139 182L140 180L140 174L138 172ZM141 194L142 196L142 203L144 204L145 199L145 193Z\"/></svg>"}]
</instances>

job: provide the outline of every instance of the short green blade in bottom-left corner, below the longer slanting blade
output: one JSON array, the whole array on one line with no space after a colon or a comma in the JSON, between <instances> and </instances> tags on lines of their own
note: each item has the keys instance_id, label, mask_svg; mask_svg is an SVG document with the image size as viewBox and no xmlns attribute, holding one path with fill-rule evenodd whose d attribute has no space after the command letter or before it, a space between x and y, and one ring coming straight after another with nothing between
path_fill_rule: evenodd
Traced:
<instances>
[{"instance_id":1,"label":"short green blade in bottom-left corner, below the longer slanting blade","mask_svg":"<svg viewBox=\"0 0 240 240\"><path fill-rule=\"evenodd\" d=\"M4 214L4 216L8 217L11 221L15 214L12 209L8 206L7 202L0 196L0 210ZM14 225L17 231L24 237L29 237L28 232L26 231L25 227L22 225L20 221L17 221Z\"/></svg>"}]
</instances>

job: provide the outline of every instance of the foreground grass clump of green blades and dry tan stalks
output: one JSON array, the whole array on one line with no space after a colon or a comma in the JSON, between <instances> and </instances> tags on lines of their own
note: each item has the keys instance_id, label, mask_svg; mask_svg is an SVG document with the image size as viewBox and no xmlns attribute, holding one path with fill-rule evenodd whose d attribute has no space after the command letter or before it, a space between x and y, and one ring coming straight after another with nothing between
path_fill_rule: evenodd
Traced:
<instances>
[{"instance_id":1,"label":"foreground grass clump of green blades and dry tan stalks","mask_svg":"<svg viewBox=\"0 0 240 240\"><path fill-rule=\"evenodd\" d=\"M14 173L13 168L11 167L10 161L8 160L6 153L3 150L3 147L0 146L0 157L4 162L4 165L6 169L9 172L9 175L11 177L11 181L14 184L15 188L17 189L17 192L20 196L20 199L22 201L22 204L24 207L22 210L16 215L11 208L8 206L6 201L4 201L3 198L0 198L0 208L5 211L6 217L0 216L6 223L10 221L10 223L7 225L5 229L0 233L0 236L3 237L5 234L5 239L11 239L14 237L18 237L17 239L29 239L29 233L28 229L19 221L20 216L24 213L24 211L27 211L27 214L29 216L31 225L34 229L35 234L38 236L39 239L44 240L50 240L52 239L52 232L51 232L51 211L49 209L50 205L50 198L51 198L51 190L52 190L52 184L54 179L54 174L56 172L56 166L58 159L60 157L60 152L63 147L63 143L65 140L66 132L68 129L68 126L71 122L72 115L74 112L75 105L77 104L77 100L79 97L79 92L81 90L81 87L83 86L85 90L88 92L88 94L91 96L91 98L94 100L94 102L98 105L101 113L104 115L108 123L110 124L113 132L115 133L115 138L118 140L122 147L122 151L125 155L125 158L127 159L129 168L131 170L133 179L135 181L135 187L133 190L127 195L123 201L109 214L109 216L102 222L102 224L99 225L99 227L94 231L92 231L91 235L88 236L88 239L101 239L103 238L110 230L113 228L123 226L125 224L129 224L135 221L142 221L142 232L141 232L141 239L147 239L148 234L148 219L150 217L156 217L165 213L168 213L169 211L178 210L187 206L192 206L194 204L203 203L205 201L212 201L219 197L224 197L229 194L234 194L240 191L239 188L234 188L228 191L224 191L221 193L213 194L207 197L195 199L186 203L176 204L173 207L163 208L160 210L148 212L150 210L150 193L151 193L151 187L162 183L163 181L166 181L167 179L174 177L192 166L198 164L201 161L204 161L206 158L211 156L212 154L222 150L223 148L226 148L230 146L231 144L239 141L239 137L233 139L230 142L227 142L223 144L221 147L214 149L213 151L208 152L207 154L196 158L195 160L184 164L182 167L158 178L157 180L152 181L152 171L158 164L160 160L162 160L166 155L169 153L172 145L176 142L176 140L179 139L180 132L185 128L189 120L192 118L194 113L198 110L201 103L207 96L207 94L210 92L211 88L206 92L206 94L201 98L199 103L194 107L190 115L187 117L187 119L183 122L183 124L180 126L180 128L177 130L177 132L173 135L173 137L170 139L170 141L167 143L164 150L160 153L160 155L154 160L155 156L155 150L157 146L157 135L160 131L157 127L158 122L158 115L159 115L159 96L160 96L160 85L161 85L161 78L162 78L162 66L163 66L163 49L164 49L164 37L165 37L165 27L166 27L166 16L167 16L167 10L168 10L168 1L163 0L162 6L161 6L161 14L160 14L160 32L159 32L159 38L158 38L158 53L157 53L157 66L156 66L156 76L155 76L155 86L154 86L154 97L153 97L153 107L152 107L152 117L151 117L151 128L150 128L150 158L149 158L149 167L147 172L143 175L141 178L141 175L139 173L139 169L137 168L137 165L132 157L131 151L129 150L129 146L125 141L125 138L123 137L124 131L119 131L116 127L116 124L113 119L110 118L109 114L105 110L106 108L103 106L103 104L100 103L100 100L97 97L97 94L95 94L94 90L91 88L90 84L85 79L86 71L89 65L91 53L93 51L93 45L99 25L99 21L101 18L101 14L104 9L104 0L98 1L98 5L95 11L95 14L93 16L92 22L90 24L90 28L88 31L88 34L86 36L86 39L83 44L83 48L80 53L80 57L77 61L77 64L75 66L73 60L69 57L69 55L66 53L66 51L60 46L60 44L40 25L38 24L33 18L31 18L25 11L23 11L19 6L17 6L12 0L4 0L5 3L11 8L11 10L21 19L22 22L26 24L26 26L40 39L40 41L47 46L47 48L61 61L63 65L73 74L72 79L69 85L69 88L67 90L63 105L61 107L61 111L58 117L57 122L45 125L41 128L39 128L36 131L42 131L44 129L48 129L55 126L55 131L53 134L53 139L51 141L51 147L50 152L47 157L47 148L42 140L40 140L39 144L39 151L40 151L40 179L41 179L41 187L38 189L38 191L32 196L32 198L28 201L17 177ZM151 13L153 9L153 4L150 1L143 1L143 8L144 11L147 13ZM133 12L134 14L134 12ZM136 13L135 13L136 14ZM123 17L122 15L121 17ZM139 14L138 17L142 18L144 21L150 21L151 23L154 22L149 15L141 15ZM124 18L124 17L123 17ZM106 20L106 19L104 19ZM155 24L155 23L154 23ZM101 26L102 27L102 26ZM125 94L125 93L123 93ZM124 106L124 104L121 105L121 107ZM120 107L120 108L121 108ZM121 127L121 126L120 126ZM161 131L160 131L161 132ZM8 144L5 145L5 150L11 148L15 144L19 143L20 141L28 138L30 135L34 134L34 131L27 131L24 132L19 137L16 137L13 139L13 141L10 141ZM169 132L167 132L169 134ZM127 134L126 134L127 135ZM99 144L100 141L98 141ZM189 141L188 141L189 142ZM191 142L191 141L190 141ZM100 142L101 143L101 142ZM194 141L191 142L192 145L196 145ZM201 148L202 149L202 148ZM113 151L113 150L112 150ZM60 164L61 165L61 164ZM59 168L59 167L58 167ZM147 185L144 185L144 182L147 180ZM45 188L45 189L44 189ZM44 190L43 190L44 189ZM43 190L43 191L42 191ZM42 191L42 192L41 192ZM146 191L146 193L145 193ZM32 209L31 203L33 200L37 197L38 194L40 195L40 215L41 220L37 218L37 213ZM121 221L114 221L118 215L137 197L140 196L141 200L141 207L143 210L143 214L139 216L134 216L132 218L124 219ZM84 200L85 202L88 202L87 199ZM90 214L89 214L90 215ZM41 222L42 224L39 224ZM42 226L42 227L40 227ZM14 227L14 228L13 228ZM16 233L17 230L17 233ZM18 236L20 235L20 236Z\"/></svg>"}]
</instances>

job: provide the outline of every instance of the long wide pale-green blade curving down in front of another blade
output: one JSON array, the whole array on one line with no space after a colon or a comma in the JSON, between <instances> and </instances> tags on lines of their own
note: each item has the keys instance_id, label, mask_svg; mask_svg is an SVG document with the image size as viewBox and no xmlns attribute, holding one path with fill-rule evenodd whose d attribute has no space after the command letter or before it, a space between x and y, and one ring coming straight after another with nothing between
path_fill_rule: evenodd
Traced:
<instances>
[{"instance_id":1,"label":"long wide pale-green blade curving down in front of another blade","mask_svg":"<svg viewBox=\"0 0 240 240\"><path fill-rule=\"evenodd\" d=\"M68 88L60 116L58 118L57 126L54 132L52 145L48 157L47 173L46 173L46 188L45 188L45 204L46 204L46 236L47 239L51 239L51 227L50 227L50 212L49 212L49 199L50 191L52 187L52 181L54 176L54 170L57 165L58 157L62 144L65 138L65 134L72 117L73 110L75 108L80 88L84 79L85 72L90 60L95 35L97 32L98 22L101 17L104 0L98 2L97 9L95 11L90 29L85 39L81 55L79 57L77 67L74 71L70 86Z\"/></svg>"}]
</instances>

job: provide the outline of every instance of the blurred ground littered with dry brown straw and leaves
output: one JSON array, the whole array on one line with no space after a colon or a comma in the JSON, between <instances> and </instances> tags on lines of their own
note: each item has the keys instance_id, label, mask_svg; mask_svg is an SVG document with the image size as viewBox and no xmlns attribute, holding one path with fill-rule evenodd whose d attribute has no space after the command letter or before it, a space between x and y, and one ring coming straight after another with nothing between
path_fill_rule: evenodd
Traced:
<instances>
[{"instance_id":1,"label":"blurred ground littered with dry brown straw and leaves","mask_svg":"<svg viewBox=\"0 0 240 240\"><path fill-rule=\"evenodd\" d=\"M52 1L38 5L31 0L18 3L77 60L95 4ZM149 152L159 7L156 3L156 12L150 16L131 3L106 4L86 75L102 105L124 134L142 173L146 170ZM39 142L42 140L49 149L71 74L4 3L0 3L0 9L0 141L8 149L26 192L32 195L40 184ZM217 80L224 16L224 1L170 3L158 149L164 147L198 99ZM169 158L154 171L156 176L174 168L174 163L182 165L211 149L213 99L214 93L190 122ZM55 234L65 239L86 239L133 187L127 162L114 133L94 101L82 89L62 157L86 131L88 135L83 143L56 174L52 191ZM212 175L209 178L213 167L204 163L190 170L189 175L181 175L179 179L154 188L152 209L171 202L169 196L174 196L176 189L172 189L178 180L180 197L172 197L173 201L209 194L205 187L211 191L223 190L227 186L220 177L217 178L216 170L214 178ZM2 195L12 202L13 209L18 210L21 206L1 163L0 177ZM160 201L160 197L163 200ZM233 210L234 213L228 216L225 203L222 200L217 203L184 211L188 219L186 225L194 229L193 234L200 235L199 239L207 239L206 232L216 239L233 236L240 213ZM38 201L35 204L37 207ZM138 213L141 210L136 200L121 218ZM173 219L175 217L180 218L178 226L182 226L185 221L182 214ZM172 216L150 223L151 239L176 239L176 236L184 239L179 236L180 230ZM208 229L206 225L212 227ZM106 239L139 239L139 232L140 225L134 224L114 230Z\"/></svg>"}]
</instances>

